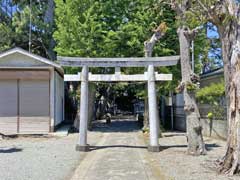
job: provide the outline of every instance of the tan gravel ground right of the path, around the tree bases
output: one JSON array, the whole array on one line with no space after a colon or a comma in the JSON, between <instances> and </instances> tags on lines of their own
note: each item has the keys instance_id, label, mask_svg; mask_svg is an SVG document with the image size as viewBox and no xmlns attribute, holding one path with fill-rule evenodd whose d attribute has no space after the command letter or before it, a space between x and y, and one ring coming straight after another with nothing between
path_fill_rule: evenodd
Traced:
<instances>
[{"instance_id":1,"label":"tan gravel ground right of the path, around the tree bases","mask_svg":"<svg viewBox=\"0 0 240 180\"><path fill-rule=\"evenodd\" d=\"M145 142L147 137L144 135ZM205 156L186 154L187 142L184 133L163 133L159 139L164 148L160 153L150 153L148 158L153 165L171 180L240 180L240 176L224 176L216 172L214 161L224 154L225 141L206 138L208 148Z\"/></svg>"}]
</instances>

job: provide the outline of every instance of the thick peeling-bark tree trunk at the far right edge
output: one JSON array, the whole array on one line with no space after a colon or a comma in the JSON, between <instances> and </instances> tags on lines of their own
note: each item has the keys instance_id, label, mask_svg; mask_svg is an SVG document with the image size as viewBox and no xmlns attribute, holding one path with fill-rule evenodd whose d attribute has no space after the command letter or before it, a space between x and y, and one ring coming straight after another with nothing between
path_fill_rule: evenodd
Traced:
<instances>
[{"instance_id":1,"label":"thick peeling-bark tree trunk at the far right edge","mask_svg":"<svg viewBox=\"0 0 240 180\"><path fill-rule=\"evenodd\" d=\"M240 6L235 0L219 1L208 8L207 19L218 27L222 43L227 98L228 139L224 156L217 161L221 173L240 173Z\"/></svg>"}]
</instances>

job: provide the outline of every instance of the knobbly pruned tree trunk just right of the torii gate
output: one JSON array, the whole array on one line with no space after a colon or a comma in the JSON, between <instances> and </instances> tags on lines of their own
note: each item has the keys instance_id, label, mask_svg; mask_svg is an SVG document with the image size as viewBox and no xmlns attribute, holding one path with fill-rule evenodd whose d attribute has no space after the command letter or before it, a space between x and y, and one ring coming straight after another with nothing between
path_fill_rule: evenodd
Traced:
<instances>
[{"instance_id":1,"label":"knobbly pruned tree trunk just right of the torii gate","mask_svg":"<svg viewBox=\"0 0 240 180\"><path fill-rule=\"evenodd\" d=\"M191 8L191 1L182 0L172 1L172 8L176 11L181 24L186 24L185 13ZM196 86L197 76L193 73L190 63L190 45L197 34L198 28L190 30L187 26L180 25L178 36L180 43L181 73L182 82L178 90L183 93L184 111L187 124L188 154L203 155L206 154L206 148L202 136L202 126L200 122L200 113L195 99L195 91L188 86Z\"/></svg>"}]
</instances>

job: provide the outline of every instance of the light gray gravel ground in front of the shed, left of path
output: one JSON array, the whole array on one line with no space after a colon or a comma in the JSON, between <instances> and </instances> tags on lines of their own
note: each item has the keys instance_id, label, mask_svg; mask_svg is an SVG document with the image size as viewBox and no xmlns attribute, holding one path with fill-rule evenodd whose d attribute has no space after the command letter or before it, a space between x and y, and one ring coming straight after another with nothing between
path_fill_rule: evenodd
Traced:
<instances>
[{"instance_id":1,"label":"light gray gravel ground in front of the shed, left of path","mask_svg":"<svg viewBox=\"0 0 240 180\"><path fill-rule=\"evenodd\" d=\"M89 133L95 144L101 133ZM1 180L66 180L85 153L75 151L78 134L66 137L18 137L0 140Z\"/></svg>"}]
</instances>

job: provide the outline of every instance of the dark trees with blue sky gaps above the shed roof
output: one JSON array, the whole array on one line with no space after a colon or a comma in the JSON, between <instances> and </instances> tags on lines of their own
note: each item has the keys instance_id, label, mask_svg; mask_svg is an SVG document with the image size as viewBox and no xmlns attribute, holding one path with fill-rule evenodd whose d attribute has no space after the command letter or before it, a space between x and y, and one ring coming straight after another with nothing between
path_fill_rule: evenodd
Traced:
<instances>
[{"instance_id":1,"label":"dark trees with blue sky gaps above the shed roof","mask_svg":"<svg viewBox=\"0 0 240 180\"><path fill-rule=\"evenodd\" d=\"M53 0L32 1L0 0L0 51L11 47L29 49L29 27L31 12L32 52L55 60L52 33Z\"/></svg>"}]
</instances>

